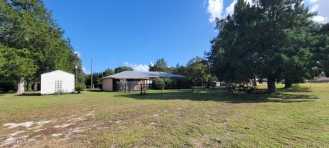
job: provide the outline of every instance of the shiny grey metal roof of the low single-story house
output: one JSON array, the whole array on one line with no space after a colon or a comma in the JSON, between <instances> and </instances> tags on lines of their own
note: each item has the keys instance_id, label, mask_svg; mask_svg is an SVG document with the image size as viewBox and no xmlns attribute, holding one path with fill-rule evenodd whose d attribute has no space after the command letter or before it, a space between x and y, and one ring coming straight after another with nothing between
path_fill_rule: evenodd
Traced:
<instances>
[{"instance_id":1,"label":"shiny grey metal roof of the low single-story house","mask_svg":"<svg viewBox=\"0 0 329 148\"><path fill-rule=\"evenodd\" d=\"M149 79L156 77L185 77L183 75L175 75L172 73L164 73L158 71L123 71L115 75L103 77L101 79L113 78L113 79Z\"/></svg>"}]
</instances>

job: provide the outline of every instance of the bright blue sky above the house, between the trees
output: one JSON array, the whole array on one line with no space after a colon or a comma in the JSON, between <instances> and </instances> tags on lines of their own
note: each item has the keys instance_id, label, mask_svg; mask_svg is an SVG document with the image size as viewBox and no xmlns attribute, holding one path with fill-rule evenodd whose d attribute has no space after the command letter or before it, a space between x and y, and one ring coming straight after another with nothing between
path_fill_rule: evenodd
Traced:
<instances>
[{"instance_id":1,"label":"bright blue sky above the house, between the trees","mask_svg":"<svg viewBox=\"0 0 329 148\"><path fill-rule=\"evenodd\" d=\"M158 58L175 66L203 56L218 34L214 18L232 13L235 1L45 0L45 5L65 30L65 38L71 39L88 73L91 58L93 71L99 72L123 65L147 71L147 65ZM320 10L319 1L328 4L328 0L306 2L310 7L318 3L316 10ZM322 17L318 19L326 20Z\"/></svg>"}]
</instances>

